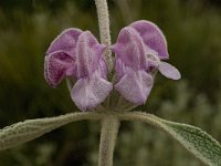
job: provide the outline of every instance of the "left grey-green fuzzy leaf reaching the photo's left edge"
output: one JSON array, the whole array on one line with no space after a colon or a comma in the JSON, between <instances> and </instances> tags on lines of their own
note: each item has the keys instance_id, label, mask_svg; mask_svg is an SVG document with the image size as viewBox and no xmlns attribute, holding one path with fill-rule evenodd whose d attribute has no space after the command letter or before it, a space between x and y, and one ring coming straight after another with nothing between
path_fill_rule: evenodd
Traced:
<instances>
[{"instance_id":1,"label":"left grey-green fuzzy leaf reaching the photo's left edge","mask_svg":"<svg viewBox=\"0 0 221 166\"><path fill-rule=\"evenodd\" d=\"M0 129L0 151L34 139L67 123L81 120L98 120L97 113L70 113L57 117L27 120Z\"/></svg>"}]
</instances>

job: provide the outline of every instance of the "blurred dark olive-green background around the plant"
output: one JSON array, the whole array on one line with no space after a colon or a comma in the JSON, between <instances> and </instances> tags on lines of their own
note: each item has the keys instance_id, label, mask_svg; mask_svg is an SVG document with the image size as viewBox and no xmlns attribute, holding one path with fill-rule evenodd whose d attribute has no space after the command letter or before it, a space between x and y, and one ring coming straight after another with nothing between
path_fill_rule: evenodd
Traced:
<instances>
[{"instance_id":1,"label":"blurred dark olive-green background around the plant","mask_svg":"<svg viewBox=\"0 0 221 166\"><path fill-rule=\"evenodd\" d=\"M181 74L160 74L139 110L199 126L221 142L221 1L109 0L112 41L128 23L156 22ZM0 128L27 118L76 111L63 82L44 81L44 52L64 29L91 30L98 38L93 0L0 1ZM13 149L0 152L1 166L96 166L97 122L76 122ZM123 123L115 166L201 166L178 143L143 123Z\"/></svg>"}]
</instances>

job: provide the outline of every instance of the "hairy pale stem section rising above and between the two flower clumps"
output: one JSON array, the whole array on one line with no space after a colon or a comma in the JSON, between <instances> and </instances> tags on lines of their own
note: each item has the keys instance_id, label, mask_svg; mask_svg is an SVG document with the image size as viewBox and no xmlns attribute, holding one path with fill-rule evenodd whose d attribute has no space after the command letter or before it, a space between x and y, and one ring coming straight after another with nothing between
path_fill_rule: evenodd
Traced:
<instances>
[{"instance_id":1,"label":"hairy pale stem section rising above and between the two flower clumps","mask_svg":"<svg viewBox=\"0 0 221 166\"><path fill-rule=\"evenodd\" d=\"M107 1L106 0L95 0L95 4L97 8L101 42L108 46L106 49L104 58L105 58L108 71L110 72L113 69L113 60L112 60L112 52L109 50L110 33L109 33L109 14L108 14Z\"/></svg>"}]
</instances>

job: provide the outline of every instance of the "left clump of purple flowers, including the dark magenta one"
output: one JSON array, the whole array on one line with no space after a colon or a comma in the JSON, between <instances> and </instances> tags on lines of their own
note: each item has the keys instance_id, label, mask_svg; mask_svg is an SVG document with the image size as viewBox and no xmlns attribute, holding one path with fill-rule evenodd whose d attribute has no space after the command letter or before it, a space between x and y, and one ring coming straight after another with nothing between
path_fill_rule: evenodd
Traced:
<instances>
[{"instance_id":1,"label":"left clump of purple flowers, including the dark magenta one","mask_svg":"<svg viewBox=\"0 0 221 166\"><path fill-rule=\"evenodd\" d=\"M63 31L46 51L46 82L55 87L65 77L76 80L71 90L72 100L82 111L93 110L113 89L102 56L105 48L90 31L74 28Z\"/></svg>"}]
</instances>

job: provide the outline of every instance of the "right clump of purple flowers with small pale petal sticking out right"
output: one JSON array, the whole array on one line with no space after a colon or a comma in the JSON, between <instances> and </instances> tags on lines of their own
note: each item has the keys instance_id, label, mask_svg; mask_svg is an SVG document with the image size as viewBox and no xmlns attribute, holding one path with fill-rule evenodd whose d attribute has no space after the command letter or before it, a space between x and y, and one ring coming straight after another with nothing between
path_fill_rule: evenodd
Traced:
<instances>
[{"instance_id":1,"label":"right clump of purple flowers with small pale petal sticking out right","mask_svg":"<svg viewBox=\"0 0 221 166\"><path fill-rule=\"evenodd\" d=\"M115 89L134 104L146 102L157 70L169 79L180 79L175 66L160 61L169 59L167 42L159 28L149 21L124 28L112 50L117 75Z\"/></svg>"}]
</instances>

